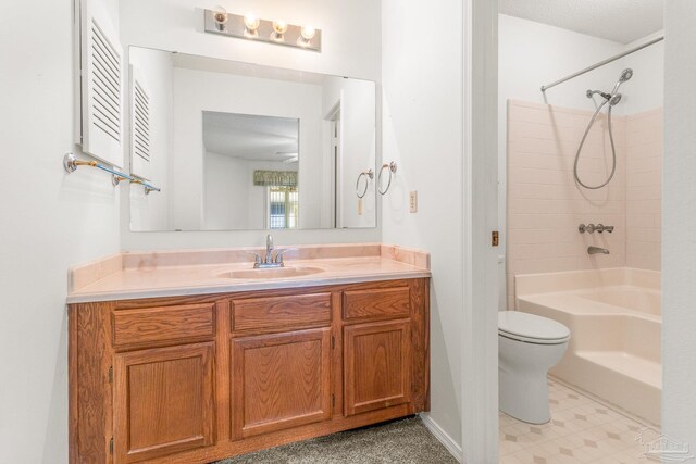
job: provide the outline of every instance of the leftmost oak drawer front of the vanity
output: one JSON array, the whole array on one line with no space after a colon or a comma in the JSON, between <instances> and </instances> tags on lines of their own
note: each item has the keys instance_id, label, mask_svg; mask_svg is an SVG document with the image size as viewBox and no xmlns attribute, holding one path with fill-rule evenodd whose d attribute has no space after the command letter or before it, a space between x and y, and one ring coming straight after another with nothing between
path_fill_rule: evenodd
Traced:
<instances>
[{"instance_id":1,"label":"leftmost oak drawer front of the vanity","mask_svg":"<svg viewBox=\"0 0 696 464\"><path fill-rule=\"evenodd\" d=\"M213 338L215 335L214 303L121 310L112 314L116 348Z\"/></svg>"}]
</instances>

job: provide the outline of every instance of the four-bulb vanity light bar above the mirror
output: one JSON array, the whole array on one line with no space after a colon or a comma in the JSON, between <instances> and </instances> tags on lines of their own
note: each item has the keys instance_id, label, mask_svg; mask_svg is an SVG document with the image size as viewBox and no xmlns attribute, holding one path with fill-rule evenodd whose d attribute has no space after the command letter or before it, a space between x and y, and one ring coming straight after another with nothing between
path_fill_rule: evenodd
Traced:
<instances>
[{"instance_id":1,"label":"four-bulb vanity light bar above the mirror","mask_svg":"<svg viewBox=\"0 0 696 464\"><path fill-rule=\"evenodd\" d=\"M312 26L288 24L283 20L261 20L254 13L227 13L222 7L206 10L204 21L204 29L209 34L322 51L322 30Z\"/></svg>"}]
</instances>

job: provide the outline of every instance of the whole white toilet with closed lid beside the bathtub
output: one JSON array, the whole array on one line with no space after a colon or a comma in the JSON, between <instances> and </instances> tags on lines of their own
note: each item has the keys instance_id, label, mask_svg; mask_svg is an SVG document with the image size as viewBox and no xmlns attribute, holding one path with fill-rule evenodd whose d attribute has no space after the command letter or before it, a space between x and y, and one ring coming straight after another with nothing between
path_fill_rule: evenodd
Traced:
<instances>
[{"instance_id":1,"label":"whole white toilet with closed lid beside the bathtub","mask_svg":"<svg viewBox=\"0 0 696 464\"><path fill-rule=\"evenodd\" d=\"M519 311L498 313L500 411L530 424L550 421L548 369L558 363L570 340L563 324Z\"/></svg>"}]
</instances>

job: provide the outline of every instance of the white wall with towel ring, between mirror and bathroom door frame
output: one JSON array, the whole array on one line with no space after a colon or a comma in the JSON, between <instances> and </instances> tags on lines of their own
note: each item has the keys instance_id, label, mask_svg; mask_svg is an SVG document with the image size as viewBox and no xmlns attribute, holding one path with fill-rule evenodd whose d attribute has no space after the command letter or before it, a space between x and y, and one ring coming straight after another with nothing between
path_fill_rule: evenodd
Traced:
<instances>
[{"instance_id":1,"label":"white wall with towel ring, between mirror and bathroom door frame","mask_svg":"<svg viewBox=\"0 0 696 464\"><path fill-rule=\"evenodd\" d=\"M384 241L432 253L430 418L461 443L462 2L383 0ZM430 34L428 32L433 32ZM409 213L410 190L419 212Z\"/></svg>"}]
</instances>

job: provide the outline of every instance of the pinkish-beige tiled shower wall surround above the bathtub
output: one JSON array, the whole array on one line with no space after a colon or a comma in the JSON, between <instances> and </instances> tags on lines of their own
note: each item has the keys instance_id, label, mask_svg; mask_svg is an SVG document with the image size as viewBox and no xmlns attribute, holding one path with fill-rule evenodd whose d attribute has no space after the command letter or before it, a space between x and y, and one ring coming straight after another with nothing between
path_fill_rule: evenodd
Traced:
<instances>
[{"instance_id":1,"label":"pinkish-beige tiled shower wall surround above the bathtub","mask_svg":"<svg viewBox=\"0 0 696 464\"><path fill-rule=\"evenodd\" d=\"M612 116L617 173L608 187L587 190L576 185L573 162L592 112L509 101L508 308L514 304L515 274L659 268L660 113ZM585 184L597 185L610 170L602 111L585 141L579 173ZM616 229L580 234L581 223ZM591 256L591 244L611 254Z\"/></svg>"}]
</instances>

